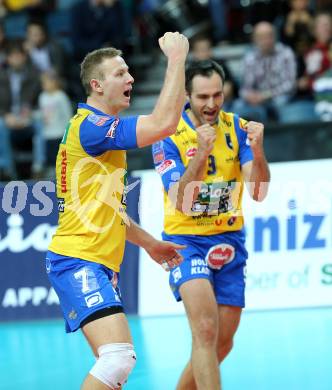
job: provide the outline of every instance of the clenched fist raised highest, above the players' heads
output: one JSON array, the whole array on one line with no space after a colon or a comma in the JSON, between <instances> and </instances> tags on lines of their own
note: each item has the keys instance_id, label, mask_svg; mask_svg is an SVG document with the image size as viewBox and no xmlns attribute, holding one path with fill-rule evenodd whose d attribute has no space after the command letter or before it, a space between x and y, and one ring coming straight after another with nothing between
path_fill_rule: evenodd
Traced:
<instances>
[{"instance_id":1,"label":"clenched fist raised highest, above the players' heads","mask_svg":"<svg viewBox=\"0 0 332 390\"><path fill-rule=\"evenodd\" d=\"M187 37L175 32L167 32L159 38L159 46L168 59L185 60L189 51Z\"/></svg>"}]
</instances>

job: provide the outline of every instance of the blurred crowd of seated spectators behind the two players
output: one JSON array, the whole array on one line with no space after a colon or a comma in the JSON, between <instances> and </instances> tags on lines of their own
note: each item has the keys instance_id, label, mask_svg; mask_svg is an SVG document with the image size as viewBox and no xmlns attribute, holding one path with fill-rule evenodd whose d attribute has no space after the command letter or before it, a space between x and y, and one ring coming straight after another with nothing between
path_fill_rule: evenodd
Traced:
<instances>
[{"instance_id":1,"label":"blurred crowd of seated spectators behind the two players","mask_svg":"<svg viewBox=\"0 0 332 390\"><path fill-rule=\"evenodd\" d=\"M225 110L263 122L331 121L331 2L243 3L0 0L0 180L20 176L16 150L31 154L34 178L54 165L66 124L84 99L79 64L87 52L115 46L130 65L137 53L153 55L166 30L190 31L191 60L212 58L219 48ZM207 29L188 29L202 19ZM222 48L239 43L247 49L234 74ZM131 71L140 78L139 69Z\"/></svg>"}]
</instances>

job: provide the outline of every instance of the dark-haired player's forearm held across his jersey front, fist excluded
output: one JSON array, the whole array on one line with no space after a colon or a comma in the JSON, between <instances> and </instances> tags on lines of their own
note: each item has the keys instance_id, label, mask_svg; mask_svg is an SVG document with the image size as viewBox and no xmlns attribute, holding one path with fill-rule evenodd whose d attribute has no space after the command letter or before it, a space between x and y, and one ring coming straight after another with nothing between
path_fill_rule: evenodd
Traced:
<instances>
[{"instance_id":1,"label":"dark-haired player's forearm held across his jersey front, fist excluded","mask_svg":"<svg viewBox=\"0 0 332 390\"><path fill-rule=\"evenodd\" d=\"M207 169L207 157L198 153L190 161L186 172L177 184L176 199L173 202L176 209L181 212L189 212L193 202L197 199L202 180Z\"/></svg>"}]
</instances>

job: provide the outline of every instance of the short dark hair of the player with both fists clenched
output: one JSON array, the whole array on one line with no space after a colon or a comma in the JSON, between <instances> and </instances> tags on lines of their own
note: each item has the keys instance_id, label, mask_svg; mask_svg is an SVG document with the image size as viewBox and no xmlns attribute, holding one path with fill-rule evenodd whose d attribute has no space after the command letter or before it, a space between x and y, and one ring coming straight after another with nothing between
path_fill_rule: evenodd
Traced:
<instances>
[{"instance_id":1,"label":"short dark hair of the player with both fists clenched","mask_svg":"<svg viewBox=\"0 0 332 390\"><path fill-rule=\"evenodd\" d=\"M222 82L225 82L225 72L221 65L213 60L195 60L190 61L186 66L186 91L192 92L192 81L197 75L211 77L213 73L217 73Z\"/></svg>"}]
</instances>

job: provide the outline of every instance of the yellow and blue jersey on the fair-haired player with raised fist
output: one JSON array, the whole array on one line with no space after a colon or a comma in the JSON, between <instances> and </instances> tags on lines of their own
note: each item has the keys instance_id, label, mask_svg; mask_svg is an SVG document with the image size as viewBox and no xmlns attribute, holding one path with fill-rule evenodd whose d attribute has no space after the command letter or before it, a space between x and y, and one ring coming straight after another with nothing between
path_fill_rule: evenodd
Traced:
<instances>
[{"instance_id":1,"label":"yellow and blue jersey on the fair-haired player with raised fist","mask_svg":"<svg viewBox=\"0 0 332 390\"><path fill-rule=\"evenodd\" d=\"M118 272L126 237L126 149L136 148L137 117L81 103L56 161L58 228L49 250Z\"/></svg>"}]
</instances>

